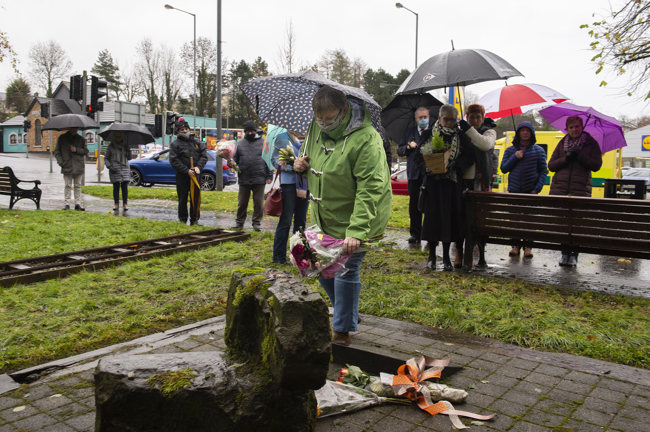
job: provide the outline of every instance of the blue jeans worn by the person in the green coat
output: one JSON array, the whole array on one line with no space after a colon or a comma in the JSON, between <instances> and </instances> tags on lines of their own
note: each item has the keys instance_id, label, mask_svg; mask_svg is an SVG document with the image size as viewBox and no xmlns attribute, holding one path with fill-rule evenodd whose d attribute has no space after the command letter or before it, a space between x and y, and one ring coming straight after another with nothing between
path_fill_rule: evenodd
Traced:
<instances>
[{"instance_id":1,"label":"blue jeans worn by the person in the green coat","mask_svg":"<svg viewBox=\"0 0 650 432\"><path fill-rule=\"evenodd\" d=\"M343 276L318 279L334 306L334 321L331 328L339 333L357 331L359 295L361 294L359 269L361 269L361 262L366 253L352 254L345 263L348 273Z\"/></svg>"}]
</instances>

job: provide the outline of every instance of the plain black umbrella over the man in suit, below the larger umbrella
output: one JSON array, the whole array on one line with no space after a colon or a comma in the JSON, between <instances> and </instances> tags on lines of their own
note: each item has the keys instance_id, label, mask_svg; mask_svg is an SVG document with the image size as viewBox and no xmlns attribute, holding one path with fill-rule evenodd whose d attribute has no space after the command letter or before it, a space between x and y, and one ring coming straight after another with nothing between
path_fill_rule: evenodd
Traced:
<instances>
[{"instance_id":1,"label":"plain black umbrella over the man in suit, below the larger umbrella","mask_svg":"<svg viewBox=\"0 0 650 432\"><path fill-rule=\"evenodd\" d=\"M390 139L399 143L402 132L415 128L415 110L419 107L441 107L441 101L429 93L399 94L382 109L382 125Z\"/></svg>"}]
</instances>

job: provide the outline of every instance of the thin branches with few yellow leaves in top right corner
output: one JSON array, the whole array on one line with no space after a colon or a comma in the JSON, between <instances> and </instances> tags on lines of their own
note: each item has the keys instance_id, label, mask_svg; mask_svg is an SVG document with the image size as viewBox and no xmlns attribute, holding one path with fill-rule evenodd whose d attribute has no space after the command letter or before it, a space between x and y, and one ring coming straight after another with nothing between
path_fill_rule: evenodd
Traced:
<instances>
[{"instance_id":1,"label":"thin branches with few yellow leaves in top right corner","mask_svg":"<svg viewBox=\"0 0 650 432\"><path fill-rule=\"evenodd\" d=\"M599 18L591 25L580 26L590 28L594 39L590 46L597 51L591 59L596 74L603 69L616 76L627 74L627 83L618 88L627 96L650 99L650 0L626 0ZM601 81L601 87L605 85L606 81Z\"/></svg>"}]
</instances>

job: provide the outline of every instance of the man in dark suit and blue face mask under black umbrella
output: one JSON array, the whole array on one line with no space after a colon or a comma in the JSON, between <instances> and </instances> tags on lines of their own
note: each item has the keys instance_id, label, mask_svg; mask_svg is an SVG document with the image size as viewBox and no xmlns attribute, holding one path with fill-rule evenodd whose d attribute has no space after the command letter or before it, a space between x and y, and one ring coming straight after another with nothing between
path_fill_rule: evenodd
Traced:
<instances>
[{"instance_id":1,"label":"man in dark suit and blue face mask under black umbrella","mask_svg":"<svg viewBox=\"0 0 650 432\"><path fill-rule=\"evenodd\" d=\"M422 213L417 209L417 200L422 185L422 174L413 163L413 154L417 150L420 134L429 126L429 110L426 107L419 107L415 110L415 128L408 128L402 133L400 145L397 147L398 156L406 156L406 178L408 179L408 214L410 218L409 243L420 243L422 232Z\"/></svg>"}]
</instances>

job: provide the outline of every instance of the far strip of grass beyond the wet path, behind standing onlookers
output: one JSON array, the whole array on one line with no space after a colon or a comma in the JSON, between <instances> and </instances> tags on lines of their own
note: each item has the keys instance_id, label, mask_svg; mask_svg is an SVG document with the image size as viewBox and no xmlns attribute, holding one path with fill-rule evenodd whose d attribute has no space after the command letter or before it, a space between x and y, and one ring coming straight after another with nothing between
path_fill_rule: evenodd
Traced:
<instances>
[{"instance_id":1,"label":"far strip of grass beyond the wet path, behind standing onlookers","mask_svg":"<svg viewBox=\"0 0 650 432\"><path fill-rule=\"evenodd\" d=\"M83 186L83 193L101 198L113 197L112 186ZM166 187L129 187L130 200L171 200L176 201L176 189ZM237 212L237 192L201 192L201 208L216 211ZM408 229L408 196L393 195L391 219L388 222L393 228ZM253 211L253 200L248 202L248 211ZM309 213L307 213L309 215Z\"/></svg>"}]
</instances>

